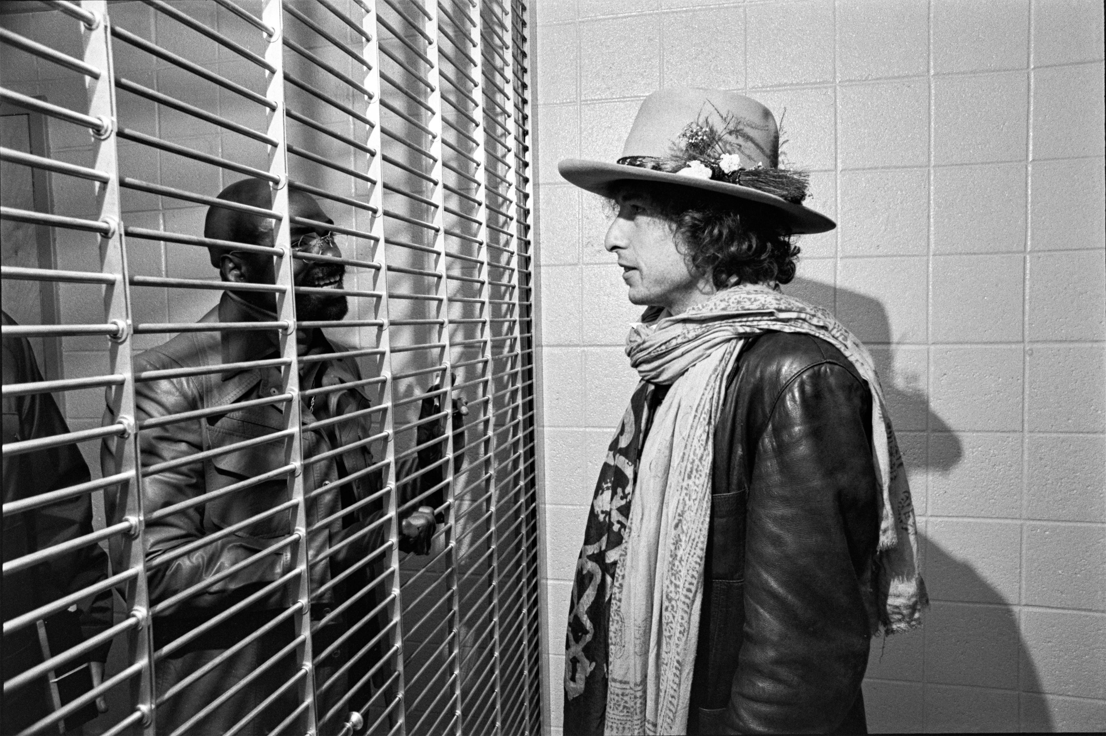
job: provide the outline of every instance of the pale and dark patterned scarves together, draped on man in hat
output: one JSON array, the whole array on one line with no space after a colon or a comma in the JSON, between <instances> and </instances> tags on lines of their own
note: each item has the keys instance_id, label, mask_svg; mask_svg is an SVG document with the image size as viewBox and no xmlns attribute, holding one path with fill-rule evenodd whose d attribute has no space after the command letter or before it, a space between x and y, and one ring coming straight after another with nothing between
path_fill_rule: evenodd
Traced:
<instances>
[{"instance_id":1,"label":"pale and dark patterned scarves together, draped on man in hat","mask_svg":"<svg viewBox=\"0 0 1106 736\"><path fill-rule=\"evenodd\" d=\"M684 314L635 325L627 338L626 354L643 380L599 473L576 564L565 734L686 730L713 428L740 344L773 330L828 341L867 381L881 487L872 628L893 633L920 623L928 599L916 564L914 506L867 349L821 307L766 286L729 288ZM670 389L660 403L664 387Z\"/></svg>"}]
</instances>

